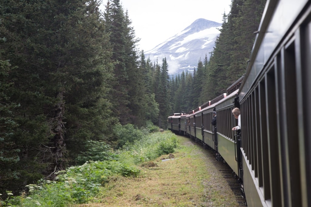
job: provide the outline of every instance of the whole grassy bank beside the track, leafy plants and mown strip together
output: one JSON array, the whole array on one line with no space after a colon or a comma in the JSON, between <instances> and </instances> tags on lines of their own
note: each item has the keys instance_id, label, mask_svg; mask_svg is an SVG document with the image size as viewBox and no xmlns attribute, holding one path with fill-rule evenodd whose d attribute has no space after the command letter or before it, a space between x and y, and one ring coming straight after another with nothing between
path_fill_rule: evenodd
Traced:
<instances>
[{"instance_id":1,"label":"whole grassy bank beside the track, leafy plants and mown strip together","mask_svg":"<svg viewBox=\"0 0 311 207\"><path fill-rule=\"evenodd\" d=\"M126 145L116 160L70 167L3 206L238 206L207 152L187 137L152 133ZM175 159L162 161L170 153Z\"/></svg>"}]
</instances>

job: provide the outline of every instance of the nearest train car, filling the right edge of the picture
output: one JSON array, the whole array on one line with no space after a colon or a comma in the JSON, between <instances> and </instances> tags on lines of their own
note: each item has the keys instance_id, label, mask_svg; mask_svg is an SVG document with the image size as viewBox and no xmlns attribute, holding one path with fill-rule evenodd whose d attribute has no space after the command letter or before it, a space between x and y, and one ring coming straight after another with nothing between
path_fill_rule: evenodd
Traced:
<instances>
[{"instance_id":1,"label":"nearest train car, filling the right edge of the picture","mask_svg":"<svg viewBox=\"0 0 311 207\"><path fill-rule=\"evenodd\" d=\"M239 91L248 206L311 206L311 1L271 0Z\"/></svg>"}]
</instances>

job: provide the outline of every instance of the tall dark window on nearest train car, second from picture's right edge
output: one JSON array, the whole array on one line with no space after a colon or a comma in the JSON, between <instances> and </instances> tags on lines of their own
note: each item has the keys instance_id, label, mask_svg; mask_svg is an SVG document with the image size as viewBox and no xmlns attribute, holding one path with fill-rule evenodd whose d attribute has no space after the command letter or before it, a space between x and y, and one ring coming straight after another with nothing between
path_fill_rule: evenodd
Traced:
<instances>
[{"instance_id":1,"label":"tall dark window on nearest train car, second from picture's right edge","mask_svg":"<svg viewBox=\"0 0 311 207\"><path fill-rule=\"evenodd\" d=\"M291 178L300 176L299 143L293 137L297 136L298 132L298 113L297 113L297 84L296 84L296 59L295 59L295 41L292 39L283 51L281 51L281 69L278 67L278 73L283 74L283 79L278 80L278 85L285 90L279 90L279 125L280 125L280 146L281 154L285 155L281 160L281 169L283 172L282 184L287 191L284 191L284 196L291 196L292 203L301 206L300 185ZM283 69L284 67L284 69ZM283 70L282 70L283 69ZM282 73L283 72L283 73ZM283 92L283 94L282 94ZM290 181L290 183L288 183ZM295 194L291 194L290 189L297 189Z\"/></svg>"}]
</instances>

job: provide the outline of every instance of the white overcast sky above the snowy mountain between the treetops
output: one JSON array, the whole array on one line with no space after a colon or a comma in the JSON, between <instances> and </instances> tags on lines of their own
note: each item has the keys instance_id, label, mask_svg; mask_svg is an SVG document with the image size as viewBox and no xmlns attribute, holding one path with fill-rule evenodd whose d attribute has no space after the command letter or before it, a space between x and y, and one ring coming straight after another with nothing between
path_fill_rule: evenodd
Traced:
<instances>
[{"instance_id":1,"label":"white overcast sky above the snowy mountain between the treetops","mask_svg":"<svg viewBox=\"0 0 311 207\"><path fill-rule=\"evenodd\" d=\"M221 23L231 0L120 0L140 38L140 50L149 51L203 18ZM104 6L107 0L103 0ZM103 7L105 8L105 7Z\"/></svg>"}]
</instances>

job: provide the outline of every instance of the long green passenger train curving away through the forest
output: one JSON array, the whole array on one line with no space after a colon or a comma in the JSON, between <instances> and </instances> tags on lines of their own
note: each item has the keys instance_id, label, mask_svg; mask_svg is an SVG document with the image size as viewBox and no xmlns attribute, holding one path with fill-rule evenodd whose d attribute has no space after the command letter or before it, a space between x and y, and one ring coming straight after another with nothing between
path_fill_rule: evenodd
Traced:
<instances>
[{"instance_id":1,"label":"long green passenger train curving away through the forest","mask_svg":"<svg viewBox=\"0 0 311 207\"><path fill-rule=\"evenodd\" d=\"M245 74L167 127L215 151L248 206L311 206L311 1L268 0ZM232 115L240 109L239 130ZM217 125L211 124L216 112Z\"/></svg>"}]
</instances>

